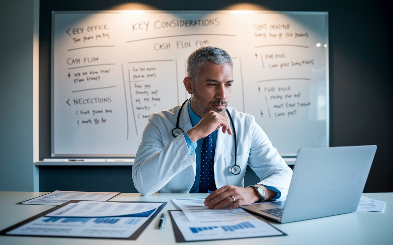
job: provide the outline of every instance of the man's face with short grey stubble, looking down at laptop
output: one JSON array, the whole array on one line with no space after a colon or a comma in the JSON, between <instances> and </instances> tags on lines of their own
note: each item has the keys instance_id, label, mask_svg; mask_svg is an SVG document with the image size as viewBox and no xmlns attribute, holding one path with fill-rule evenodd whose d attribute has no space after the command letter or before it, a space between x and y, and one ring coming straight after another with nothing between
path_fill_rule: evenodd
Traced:
<instances>
[{"instance_id":1,"label":"man's face with short grey stubble, looking down at laptop","mask_svg":"<svg viewBox=\"0 0 393 245\"><path fill-rule=\"evenodd\" d=\"M192 89L196 114L203 117L209 111L224 114L232 91L233 71L229 62L217 65L205 62ZM193 104L191 103L191 106Z\"/></svg>"}]
</instances>

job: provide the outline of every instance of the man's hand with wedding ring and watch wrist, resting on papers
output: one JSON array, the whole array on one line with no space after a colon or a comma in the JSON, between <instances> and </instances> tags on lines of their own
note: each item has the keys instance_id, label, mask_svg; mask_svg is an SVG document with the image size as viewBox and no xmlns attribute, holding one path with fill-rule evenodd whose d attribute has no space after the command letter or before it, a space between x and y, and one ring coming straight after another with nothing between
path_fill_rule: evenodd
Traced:
<instances>
[{"instance_id":1,"label":"man's hand with wedding ring and watch wrist, resting on papers","mask_svg":"<svg viewBox=\"0 0 393 245\"><path fill-rule=\"evenodd\" d=\"M277 196L277 192L262 187L265 191L265 199L269 200ZM236 201L233 201L232 196ZM229 209L236 209L243 205L249 205L260 198L257 191L253 187L237 187L234 185L226 185L213 191L204 201L205 206L209 209L222 209L228 206Z\"/></svg>"}]
</instances>

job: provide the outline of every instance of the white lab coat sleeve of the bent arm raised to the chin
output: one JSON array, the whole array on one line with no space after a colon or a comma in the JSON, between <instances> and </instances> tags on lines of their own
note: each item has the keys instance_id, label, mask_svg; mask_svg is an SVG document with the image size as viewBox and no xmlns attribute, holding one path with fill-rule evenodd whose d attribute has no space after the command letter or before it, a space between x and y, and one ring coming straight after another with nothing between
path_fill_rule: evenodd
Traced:
<instances>
[{"instance_id":1,"label":"white lab coat sleeve of the bent arm raised to the chin","mask_svg":"<svg viewBox=\"0 0 393 245\"><path fill-rule=\"evenodd\" d=\"M176 174L193 163L184 135L173 138L169 129L152 114L142 134L142 142L132 166L132 179L143 195L151 195L165 186ZM165 142L173 138L168 143Z\"/></svg>"}]
</instances>

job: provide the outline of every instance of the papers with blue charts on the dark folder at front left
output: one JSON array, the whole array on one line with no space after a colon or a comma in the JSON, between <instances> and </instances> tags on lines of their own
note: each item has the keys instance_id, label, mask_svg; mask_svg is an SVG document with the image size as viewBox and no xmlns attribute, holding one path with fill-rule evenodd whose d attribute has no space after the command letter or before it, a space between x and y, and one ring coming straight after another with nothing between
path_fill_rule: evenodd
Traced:
<instances>
[{"instance_id":1,"label":"papers with blue charts on the dark folder at front left","mask_svg":"<svg viewBox=\"0 0 393 245\"><path fill-rule=\"evenodd\" d=\"M64 206L66 209L58 209L48 214L52 216L42 216L7 234L129 238L163 204L110 202L110 207L108 207L109 202L81 201L79 203L83 205L75 206L78 203L70 203ZM86 205L86 203L95 205ZM96 212L95 217L92 217L94 212ZM72 216L65 217L69 214ZM112 216L107 216L108 214Z\"/></svg>"}]
</instances>

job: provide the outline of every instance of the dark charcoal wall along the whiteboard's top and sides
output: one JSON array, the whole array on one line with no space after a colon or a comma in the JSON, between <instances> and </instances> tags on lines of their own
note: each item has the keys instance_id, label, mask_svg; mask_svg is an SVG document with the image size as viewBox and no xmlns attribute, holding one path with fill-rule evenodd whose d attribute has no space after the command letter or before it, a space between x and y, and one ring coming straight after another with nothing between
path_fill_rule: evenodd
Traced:
<instances>
[{"instance_id":1,"label":"dark charcoal wall along the whiteboard's top and sides","mask_svg":"<svg viewBox=\"0 0 393 245\"><path fill-rule=\"evenodd\" d=\"M40 160L50 157L51 11L107 10L121 0L40 0ZM219 10L240 1L159 1L159 10ZM387 2L376 0L251 0L274 11L328 11L330 145L378 146L364 192L393 192L392 47ZM60 169L59 169L60 171ZM78 170L75 169L75 173ZM106 171L105 168L102 171ZM86 173L87 174L87 173ZM120 172L113 174L121 175ZM40 172L40 183L42 176ZM87 177L86 177L87 178ZM43 180L44 181L44 180Z\"/></svg>"}]
</instances>

